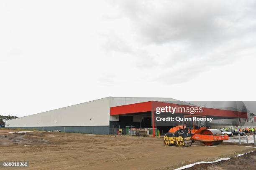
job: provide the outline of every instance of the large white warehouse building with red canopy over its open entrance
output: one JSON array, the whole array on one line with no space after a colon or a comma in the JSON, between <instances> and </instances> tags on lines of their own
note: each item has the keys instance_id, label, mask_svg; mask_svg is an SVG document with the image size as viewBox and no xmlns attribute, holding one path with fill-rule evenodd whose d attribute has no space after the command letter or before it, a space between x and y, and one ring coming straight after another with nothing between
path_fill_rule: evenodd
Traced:
<instances>
[{"instance_id":1,"label":"large white warehouse building with red canopy over its open entrance","mask_svg":"<svg viewBox=\"0 0 256 170\"><path fill-rule=\"evenodd\" d=\"M161 125L154 122L156 107L164 106L193 107L189 102L172 98L158 97L105 97L90 102L63 107L47 112L20 117L5 122L6 128L23 128L35 130L61 130L67 133L110 134L112 127L155 128L166 133L170 127L180 122ZM246 119L247 112L221 110L204 107L200 115L215 119ZM176 112L175 116L186 115ZM238 121L239 123L239 121Z\"/></svg>"}]
</instances>

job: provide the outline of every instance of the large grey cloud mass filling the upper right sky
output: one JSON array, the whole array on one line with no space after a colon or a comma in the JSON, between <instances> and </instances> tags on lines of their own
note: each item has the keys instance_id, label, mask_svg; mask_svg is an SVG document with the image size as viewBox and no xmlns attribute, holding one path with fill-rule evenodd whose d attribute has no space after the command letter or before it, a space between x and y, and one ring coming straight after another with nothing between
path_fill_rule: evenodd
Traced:
<instances>
[{"instance_id":1,"label":"large grey cloud mass filling the upper right sky","mask_svg":"<svg viewBox=\"0 0 256 170\"><path fill-rule=\"evenodd\" d=\"M255 1L151 2L156 3L137 0L113 3L120 9L121 18L131 20L133 31L137 32L134 43L145 48L136 48L123 39L122 47L118 43L119 46L112 46L111 50L131 52L138 58L138 68L151 69L152 65L162 68L164 73L152 77L152 81L183 83L201 72L228 65L238 57L246 57L243 56L246 50L255 52ZM113 44L115 42L118 41ZM162 64L156 62L158 55L146 50L152 44L169 47L166 52L169 57ZM173 45L179 49L174 49ZM170 75L174 81L165 81Z\"/></svg>"}]
</instances>

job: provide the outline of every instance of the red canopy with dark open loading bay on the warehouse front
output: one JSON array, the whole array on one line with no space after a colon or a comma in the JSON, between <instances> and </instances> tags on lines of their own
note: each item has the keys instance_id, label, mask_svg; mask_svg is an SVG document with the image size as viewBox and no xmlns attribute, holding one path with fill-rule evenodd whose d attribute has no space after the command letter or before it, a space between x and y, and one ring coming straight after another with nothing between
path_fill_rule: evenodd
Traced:
<instances>
[{"instance_id":1,"label":"red canopy with dark open loading bay on the warehouse front","mask_svg":"<svg viewBox=\"0 0 256 170\"><path fill-rule=\"evenodd\" d=\"M125 127L135 127L135 128L152 128L153 129L153 137L155 137L155 127L160 131L160 133L167 133L170 128L180 125L183 122L172 121L166 122L163 124L162 122L156 121L156 107L165 107L165 106L183 106L183 107L195 107L193 105L178 105L176 103L170 102L159 102L159 101L149 101L149 102L140 102L130 105L122 105L116 107L110 107L110 128L111 125L117 125L120 128ZM206 120L212 119L230 119L230 118L238 118L238 117L246 117L246 112L232 111L232 110L221 110L214 108L202 108L203 112L200 113L200 116L204 116ZM162 114L163 115L163 114ZM182 119L183 116L189 115L184 112L179 113L165 113L167 116L172 117L180 117ZM197 115L195 115L197 116ZM199 115L198 115L199 116ZM111 119L112 117L112 119ZM115 119L113 118L115 117ZM149 127L149 121L150 127ZM198 122L198 121L195 121ZM200 126L200 125L198 125ZM207 126L207 125L205 125Z\"/></svg>"}]
</instances>

